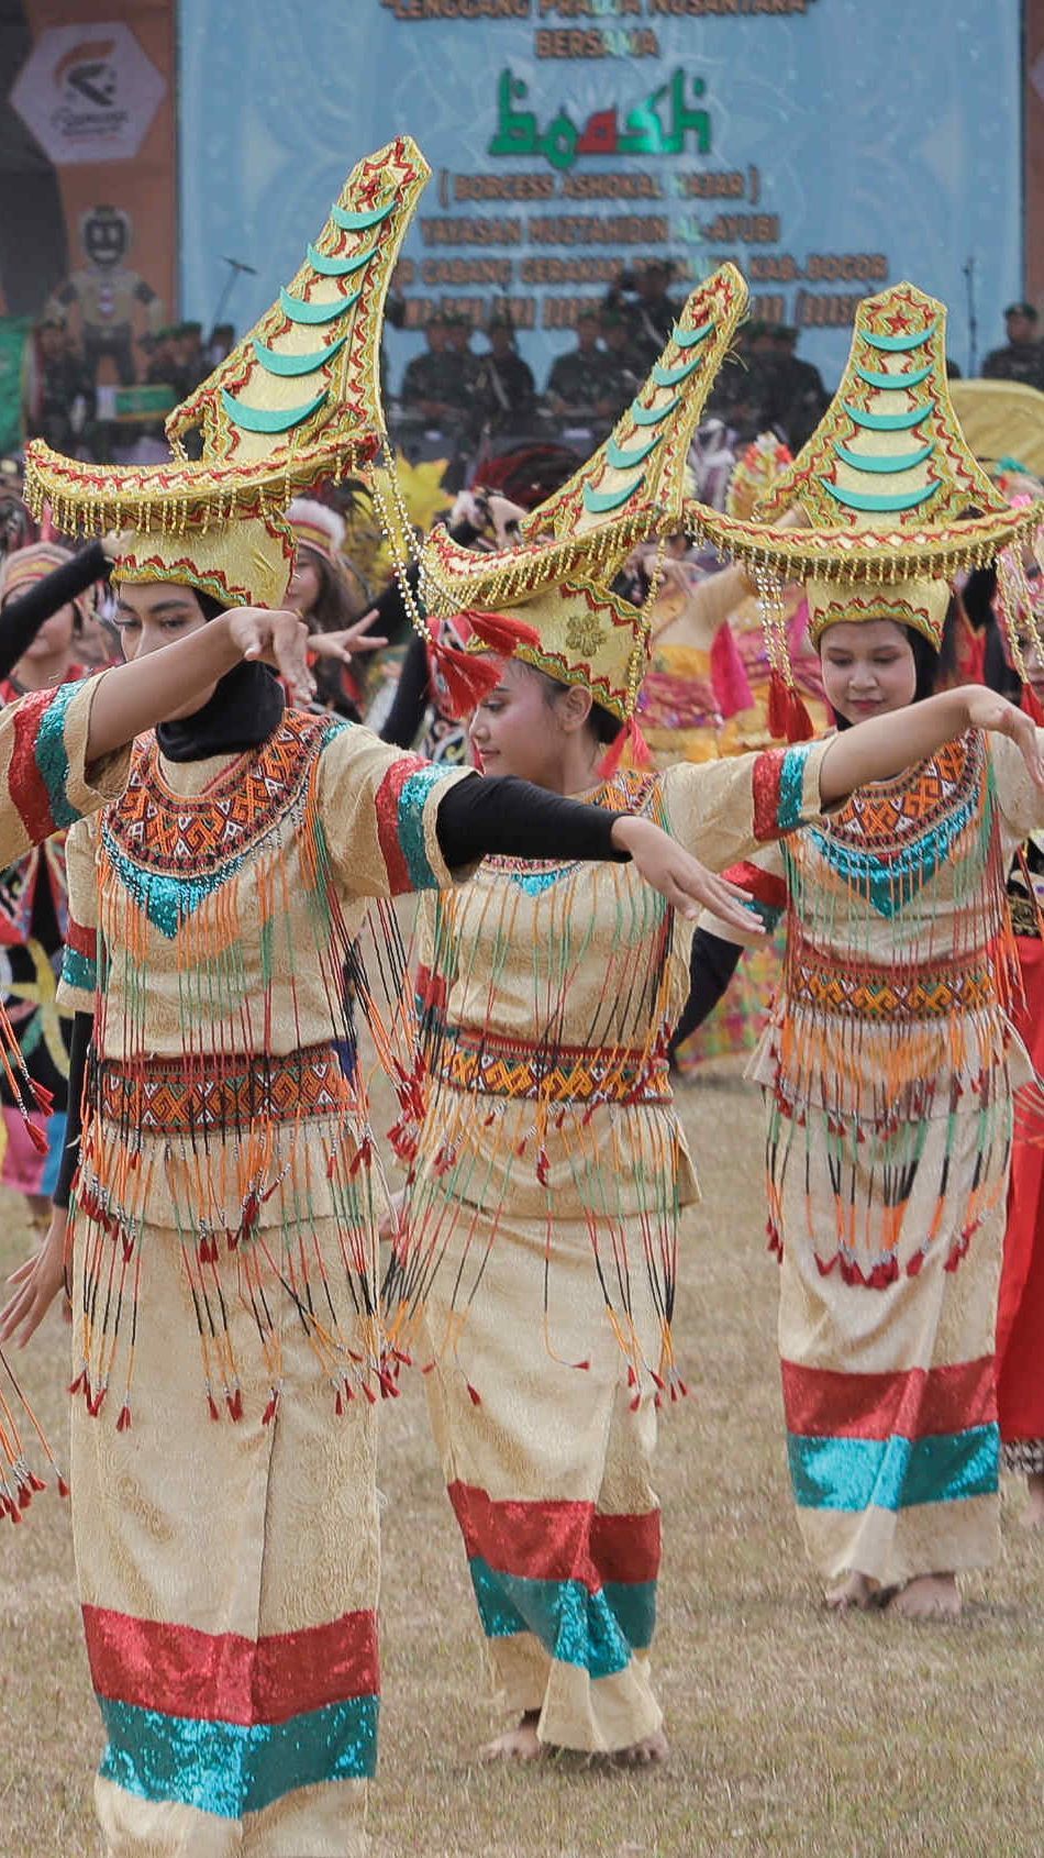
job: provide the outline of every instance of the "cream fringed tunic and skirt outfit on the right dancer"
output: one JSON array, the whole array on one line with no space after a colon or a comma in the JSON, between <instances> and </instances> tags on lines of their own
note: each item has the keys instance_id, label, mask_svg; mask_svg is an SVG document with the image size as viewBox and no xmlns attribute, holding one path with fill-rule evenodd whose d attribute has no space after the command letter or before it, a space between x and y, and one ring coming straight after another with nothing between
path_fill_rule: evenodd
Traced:
<instances>
[{"instance_id":1,"label":"cream fringed tunic and skirt outfit on the right dancer","mask_svg":"<svg viewBox=\"0 0 1044 1858\"><path fill-rule=\"evenodd\" d=\"M970 732L756 858L786 966L750 1070L790 1470L823 1579L892 1587L998 1551L998 1276L1033 1076L1005 879L1042 818L1014 743Z\"/></svg>"}]
</instances>

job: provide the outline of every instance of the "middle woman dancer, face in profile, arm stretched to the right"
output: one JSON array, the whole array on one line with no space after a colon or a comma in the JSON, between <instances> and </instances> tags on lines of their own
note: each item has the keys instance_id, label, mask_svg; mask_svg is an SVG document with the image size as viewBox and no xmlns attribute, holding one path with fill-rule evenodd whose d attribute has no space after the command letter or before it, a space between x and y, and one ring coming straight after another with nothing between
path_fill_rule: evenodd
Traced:
<instances>
[{"instance_id":1,"label":"middle woman dancer, face in profile, arm stretched to the right","mask_svg":"<svg viewBox=\"0 0 1044 1858\"><path fill-rule=\"evenodd\" d=\"M606 777L606 747L633 741L646 647L643 615L607 583L639 526L680 522L674 388L691 331L726 329L732 277L689 299L632 412L529 517L520 550L466 557L437 531L425 552L429 598L446 609L513 596L539 624L541 643L518 648L476 710L483 767L626 803L711 864L897 773L970 715L1011 730L1038 769L1029 719L973 691L832 743ZM650 425L656 464L620 483L619 461ZM583 513L602 511L585 530ZM433 1429L500 1700L516 1717L489 1754L557 1745L661 1760L650 1462L656 1408L684 1394L671 1312L695 1178L665 1052L691 931L628 873L561 851L535 873L487 860L425 916L429 1098L386 1306L392 1338L425 1312Z\"/></svg>"}]
</instances>

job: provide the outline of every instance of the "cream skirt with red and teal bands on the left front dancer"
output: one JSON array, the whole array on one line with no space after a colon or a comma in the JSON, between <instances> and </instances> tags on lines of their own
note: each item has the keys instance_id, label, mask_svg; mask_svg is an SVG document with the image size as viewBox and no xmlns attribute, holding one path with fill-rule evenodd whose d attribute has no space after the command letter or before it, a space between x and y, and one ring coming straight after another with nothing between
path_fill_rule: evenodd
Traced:
<instances>
[{"instance_id":1,"label":"cream skirt with red and teal bands on the left front dancer","mask_svg":"<svg viewBox=\"0 0 1044 1858\"><path fill-rule=\"evenodd\" d=\"M316 1256L340 1256L334 1221L314 1236ZM266 1239L279 1245L271 1230ZM93 1221L78 1215L74 1304L97 1245ZM178 1234L145 1226L137 1250L132 1423L117 1429L115 1397L95 1418L84 1399L72 1408L76 1574L108 1732L97 1778L108 1852L362 1852L379 1709L377 1408L357 1397L334 1412L282 1299L282 1384L266 1423L256 1319L223 1262L241 1418L212 1418ZM76 1362L82 1328L78 1312Z\"/></svg>"}]
</instances>

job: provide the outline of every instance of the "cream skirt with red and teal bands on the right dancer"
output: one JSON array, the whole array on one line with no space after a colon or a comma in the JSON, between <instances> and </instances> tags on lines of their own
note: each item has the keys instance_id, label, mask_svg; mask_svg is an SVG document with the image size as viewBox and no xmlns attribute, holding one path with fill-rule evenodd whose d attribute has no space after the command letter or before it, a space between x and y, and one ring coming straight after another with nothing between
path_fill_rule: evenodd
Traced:
<instances>
[{"instance_id":1,"label":"cream skirt with red and teal bands on the right dancer","mask_svg":"<svg viewBox=\"0 0 1044 1858\"><path fill-rule=\"evenodd\" d=\"M999 1546L1011 1098L884 1139L804 1119L769 1100L784 1412L808 1553L823 1579L860 1572L882 1587L985 1566Z\"/></svg>"}]
</instances>

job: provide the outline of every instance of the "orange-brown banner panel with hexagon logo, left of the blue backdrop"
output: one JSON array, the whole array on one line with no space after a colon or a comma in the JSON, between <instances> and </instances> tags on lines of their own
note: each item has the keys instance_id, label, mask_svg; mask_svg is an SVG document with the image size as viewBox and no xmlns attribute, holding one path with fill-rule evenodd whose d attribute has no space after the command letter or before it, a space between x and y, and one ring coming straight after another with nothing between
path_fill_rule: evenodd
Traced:
<instances>
[{"instance_id":1,"label":"orange-brown banner panel with hexagon logo, left of the blue backdrop","mask_svg":"<svg viewBox=\"0 0 1044 1858\"><path fill-rule=\"evenodd\" d=\"M175 299L175 0L0 0L0 312L132 381Z\"/></svg>"}]
</instances>

